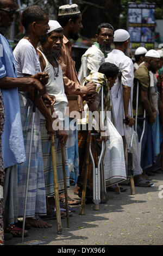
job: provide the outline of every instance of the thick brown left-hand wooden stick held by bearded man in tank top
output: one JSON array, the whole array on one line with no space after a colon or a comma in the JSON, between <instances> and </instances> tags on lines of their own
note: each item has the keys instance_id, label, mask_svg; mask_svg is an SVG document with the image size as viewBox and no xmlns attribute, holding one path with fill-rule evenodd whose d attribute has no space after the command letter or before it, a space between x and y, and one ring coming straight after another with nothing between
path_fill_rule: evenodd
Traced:
<instances>
[{"instance_id":1,"label":"thick brown left-hand wooden stick held by bearded man in tank top","mask_svg":"<svg viewBox=\"0 0 163 256\"><path fill-rule=\"evenodd\" d=\"M52 115L51 107L48 107L48 111ZM61 216L60 216L58 178L57 178L57 159L56 159L54 135L52 136L52 139L51 139L51 151L52 151L52 165L53 165L53 183L54 183L54 193L55 193L55 208L56 208L56 215L57 215L57 232L58 234L61 234L62 226L61 226Z\"/></svg>"}]
</instances>

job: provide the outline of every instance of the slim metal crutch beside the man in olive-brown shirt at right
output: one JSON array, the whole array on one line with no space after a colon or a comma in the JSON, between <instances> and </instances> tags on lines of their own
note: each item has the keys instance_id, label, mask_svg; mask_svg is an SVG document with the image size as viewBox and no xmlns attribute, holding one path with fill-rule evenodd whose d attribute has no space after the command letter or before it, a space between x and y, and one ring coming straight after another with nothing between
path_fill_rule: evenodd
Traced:
<instances>
[{"instance_id":1,"label":"slim metal crutch beside the man in olive-brown shirt at right","mask_svg":"<svg viewBox=\"0 0 163 256\"><path fill-rule=\"evenodd\" d=\"M141 134L141 138L140 138L140 142L139 142L139 160L141 162L141 145L142 145L142 139L143 139L143 135L145 133L145 127L146 127L146 109L144 109L142 118L137 117L138 101L139 101L139 81L137 81L137 83L135 83L135 86L137 86L137 88L136 88L136 115L135 115L135 131L136 131L136 133L137 133L137 119L143 121L143 130L142 130L142 134Z\"/></svg>"}]
</instances>

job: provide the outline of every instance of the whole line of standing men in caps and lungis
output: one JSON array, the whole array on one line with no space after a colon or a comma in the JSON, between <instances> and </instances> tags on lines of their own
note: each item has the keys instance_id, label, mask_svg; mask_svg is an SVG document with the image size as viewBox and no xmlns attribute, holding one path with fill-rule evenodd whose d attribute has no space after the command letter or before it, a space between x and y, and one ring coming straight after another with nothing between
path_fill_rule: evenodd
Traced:
<instances>
[{"instance_id":1,"label":"whole line of standing men in caps and lungis","mask_svg":"<svg viewBox=\"0 0 163 256\"><path fill-rule=\"evenodd\" d=\"M24 216L29 161L24 236L28 236L30 227L52 227L46 219L57 215L53 135L60 215L64 217L66 211L61 144L67 188L75 186L74 194L81 197L89 114L102 111L102 88L105 121L93 119L92 131L100 136L92 136L91 148L93 159L98 162L101 143L106 145L106 190L115 191L118 184L128 185L127 151L131 138L135 186L153 186L149 175L154 169L149 168L161 153L162 50L139 47L133 63L129 57L129 33L125 29L114 31L112 25L102 23L97 27L96 42L82 56L77 74L70 40L77 40L83 28L78 5L59 7L57 21L49 21L47 11L37 5L23 10L21 22L26 32L12 51L7 38L16 10L15 0L0 0L0 245L22 236L20 218ZM124 190L120 187L120 191ZM92 194L90 160L86 186L86 200L90 203ZM70 215L74 211L71 205L76 204L80 201L68 196Z\"/></svg>"}]
</instances>

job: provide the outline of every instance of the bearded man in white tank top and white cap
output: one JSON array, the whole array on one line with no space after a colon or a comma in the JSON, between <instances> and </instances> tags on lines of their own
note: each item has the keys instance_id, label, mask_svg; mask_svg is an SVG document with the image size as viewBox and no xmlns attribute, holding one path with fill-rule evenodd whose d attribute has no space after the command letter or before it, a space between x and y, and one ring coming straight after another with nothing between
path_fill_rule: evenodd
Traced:
<instances>
[{"instance_id":1,"label":"bearded man in white tank top and white cap","mask_svg":"<svg viewBox=\"0 0 163 256\"><path fill-rule=\"evenodd\" d=\"M58 63L58 59L61 56L61 47L64 37L64 29L60 26L58 21L49 21L48 36L46 39L41 40L41 45L37 48L40 57L40 65L42 71L47 71L49 75L48 83L46 84L47 92L50 95L55 96L54 112L58 115L59 121L61 122L57 133L61 133L64 138L64 145L67 140L67 133L64 131L64 119L65 111L68 104L67 97L64 89L64 81L62 76L62 70ZM54 113L53 113L54 116ZM53 167L52 167L52 153L51 143L48 140L48 135L45 129L45 120L41 119L41 140L42 140L42 154L43 154L43 166L45 175L45 188L47 198L47 215L52 214L53 195L54 195L54 184L53 184ZM54 127L54 126L53 126ZM55 129L55 128L54 128ZM62 159L61 159L61 146L58 139L55 138L55 148L57 157L57 177L59 194L64 193L64 180L62 173ZM70 187L69 170L68 170L68 158L67 158L67 147L65 147L65 168L67 187ZM51 198L50 198L51 197ZM62 206L63 208L64 206ZM61 209L62 210L62 209ZM60 211L61 212L61 211Z\"/></svg>"}]
</instances>

